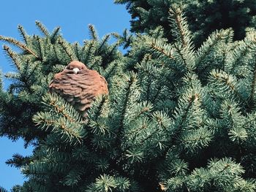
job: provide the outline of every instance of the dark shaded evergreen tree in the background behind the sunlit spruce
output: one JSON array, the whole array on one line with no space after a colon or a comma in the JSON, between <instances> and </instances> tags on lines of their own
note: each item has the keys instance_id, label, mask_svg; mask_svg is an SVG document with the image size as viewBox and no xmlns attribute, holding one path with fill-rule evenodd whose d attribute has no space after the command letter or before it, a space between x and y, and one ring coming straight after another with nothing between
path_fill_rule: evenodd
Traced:
<instances>
[{"instance_id":1,"label":"dark shaded evergreen tree in the background behind the sunlit spruce","mask_svg":"<svg viewBox=\"0 0 256 192\"><path fill-rule=\"evenodd\" d=\"M233 28L234 39L244 39L245 28L255 27L256 4L254 0L116 0L127 4L132 16L131 27L134 32L147 32L162 26L165 37L174 39L169 25L168 11L172 4L184 7L184 14L193 33L196 47L216 29Z\"/></svg>"}]
</instances>

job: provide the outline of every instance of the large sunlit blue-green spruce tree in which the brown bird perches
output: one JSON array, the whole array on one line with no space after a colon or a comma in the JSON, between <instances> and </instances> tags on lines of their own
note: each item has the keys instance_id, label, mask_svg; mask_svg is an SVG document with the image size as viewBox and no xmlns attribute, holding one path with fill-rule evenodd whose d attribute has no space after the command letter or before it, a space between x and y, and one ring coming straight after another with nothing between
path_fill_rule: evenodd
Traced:
<instances>
[{"instance_id":1,"label":"large sunlit blue-green spruce tree in which the brown bird perches","mask_svg":"<svg viewBox=\"0 0 256 192\"><path fill-rule=\"evenodd\" d=\"M12 191L255 191L256 31L233 41L214 31L195 50L181 9L161 26L70 44L37 22L43 36L0 37L16 72L1 88L1 135L34 144L7 164L29 178ZM113 36L116 43L110 45ZM129 46L122 55L118 46ZM48 84L69 61L96 69L109 84L83 119ZM12 112L11 107L18 109Z\"/></svg>"}]
</instances>

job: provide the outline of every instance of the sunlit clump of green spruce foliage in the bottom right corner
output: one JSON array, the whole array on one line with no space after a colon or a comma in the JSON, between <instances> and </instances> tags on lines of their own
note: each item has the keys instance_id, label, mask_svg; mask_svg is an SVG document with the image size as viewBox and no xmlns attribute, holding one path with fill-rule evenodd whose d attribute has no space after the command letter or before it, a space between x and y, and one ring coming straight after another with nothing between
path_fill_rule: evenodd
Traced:
<instances>
[{"instance_id":1,"label":"sunlit clump of green spruce foliage in the bottom right corner","mask_svg":"<svg viewBox=\"0 0 256 192\"><path fill-rule=\"evenodd\" d=\"M211 159L206 168L196 168L190 174L176 173L162 187L166 191L255 191L255 181L242 181L243 173L241 165L230 158Z\"/></svg>"}]
</instances>

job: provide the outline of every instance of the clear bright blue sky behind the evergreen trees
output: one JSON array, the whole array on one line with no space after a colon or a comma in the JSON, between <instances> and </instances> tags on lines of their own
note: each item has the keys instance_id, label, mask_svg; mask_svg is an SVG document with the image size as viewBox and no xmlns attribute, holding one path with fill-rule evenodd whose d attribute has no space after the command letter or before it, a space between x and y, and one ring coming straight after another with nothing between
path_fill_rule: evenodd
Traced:
<instances>
[{"instance_id":1,"label":"clear bright blue sky behind the evergreen trees","mask_svg":"<svg viewBox=\"0 0 256 192\"><path fill-rule=\"evenodd\" d=\"M49 31L61 26L61 33L69 42L83 42L89 38L88 24L93 24L100 37L109 32L121 33L129 28L129 14L124 5L113 4L113 0L23 0L1 1L0 35L19 39L18 24L28 34L39 34L35 21L41 21ZM3 42L0 42L2 47ZM0 51L0 69L13 71L10 61ZM12 185L22 184L25 180L18 169L4 162L14 153L29 155L32 148L23 148L22 139L12 142L0 137L0 186L10 190Z\"/></svg>"}]
</instances>

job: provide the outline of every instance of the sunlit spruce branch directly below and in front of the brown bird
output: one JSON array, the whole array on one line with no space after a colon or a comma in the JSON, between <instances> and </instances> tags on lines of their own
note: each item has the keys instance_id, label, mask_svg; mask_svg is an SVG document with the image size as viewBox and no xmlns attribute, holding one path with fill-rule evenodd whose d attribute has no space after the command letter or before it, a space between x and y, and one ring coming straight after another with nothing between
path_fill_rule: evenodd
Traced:
<instances>
[{"instance_id":1,"label":"sunlit spruce branch directly below and in front of the brown bird","mask_svg":"<svg viewBox=\"0 0 256 192\"><path fill-rule=\"evenodd\" d=\"M37 126L46 131L50 128L53 133L61 135L64 142L81 142L81 139L86 137L81 116L57 93L47 93L42 98L42 103L48 110L47 112L37 112L33 116L32 119ZM72 140L74 137L75 140Z\"/></svg>"}]
</instances>

